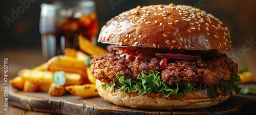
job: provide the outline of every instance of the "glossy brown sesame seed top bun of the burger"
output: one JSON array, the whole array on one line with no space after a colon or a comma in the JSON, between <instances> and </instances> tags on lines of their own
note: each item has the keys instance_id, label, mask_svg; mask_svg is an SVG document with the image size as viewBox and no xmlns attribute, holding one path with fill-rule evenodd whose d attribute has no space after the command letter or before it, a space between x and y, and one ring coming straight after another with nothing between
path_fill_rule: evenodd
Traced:
<instances>
[{"instance_id":1,"label":"glossy brown sesame seed top bun of the burger","mask_svg":"<svg viewBox=\"0 0 256 115\"><path fill-rule=\"evenodd\" d=\"M125 11L101 28L98 42L170 50L231 50L228 28L186 5L152 5Z\"/></svg>"}]
</instances>

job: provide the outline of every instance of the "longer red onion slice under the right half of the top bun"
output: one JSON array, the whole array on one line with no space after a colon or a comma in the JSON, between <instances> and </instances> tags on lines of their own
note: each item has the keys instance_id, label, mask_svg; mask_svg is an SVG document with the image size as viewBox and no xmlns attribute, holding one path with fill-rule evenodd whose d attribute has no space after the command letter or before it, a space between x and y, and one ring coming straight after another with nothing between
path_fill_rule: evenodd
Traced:
<instances>
[{"instance_id":1,"label":"longer red onion slice under the right half of the top bun","mask_svg":"<svg viewBox=\"0 0 256 115\"><path fill-rule=\"evenodd\" d=\"M184 60L191 60L191 61L195 61L197 60L198 57L200 57L200 55L197 56L193 56L193 55L185 55L185 54L175 54L175 53L156 53L156 56L159 57L167 57L169 59L184 59Z\"/></svg>"}]
</instances>

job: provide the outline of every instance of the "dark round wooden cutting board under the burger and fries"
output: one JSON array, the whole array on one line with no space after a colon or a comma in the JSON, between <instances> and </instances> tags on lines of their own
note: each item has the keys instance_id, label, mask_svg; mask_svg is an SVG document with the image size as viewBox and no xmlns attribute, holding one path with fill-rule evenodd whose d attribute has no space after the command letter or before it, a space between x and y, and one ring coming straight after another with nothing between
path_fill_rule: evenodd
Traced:
<instances>
[{"instance_id":1,"label":"dark round wooden cutting board under the burger and fries","mask_svg":"<svg viewBox=\"0 0 256 115\"><path fill-rule=\"evenodd\" d=\"M10 105L27 110L58 114L256 114L256 96L233 95L220 105L194 110L146 110L117 106L101 97L84 99L66 94L52 97L47 93L27 93L10 86Z\"/></svg>"}]
</instances>

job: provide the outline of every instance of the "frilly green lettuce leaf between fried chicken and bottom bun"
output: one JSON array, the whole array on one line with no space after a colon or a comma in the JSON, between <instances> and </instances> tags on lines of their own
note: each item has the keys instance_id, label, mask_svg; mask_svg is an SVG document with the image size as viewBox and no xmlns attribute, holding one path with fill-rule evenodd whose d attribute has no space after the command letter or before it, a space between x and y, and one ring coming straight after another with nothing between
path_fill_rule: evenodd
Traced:
<instances>
[{"instance_id":1,"label":"frilly green lettuce leaf between fried chicken and bottom bun","mask_svg":"<svg viewBox=\"0 0 256 115\"><path fill-rule=\"evenodd\" d=\"M139 81L132 81L131 78L125 79L124 76L116 75L116 78L118 79L117 84L115 82L113 85L102 84L102 89L105 89L106 87L113 88L113 91L119 89L120 91L123 91L124 94L138 91L139 96L143 94L150 94L151 92L162 92L162 94L167 98L171 94L176 94L179 95L180 98L185 98L187 92L192 93L194 91L201 91L201 88L194 88L189 82L176 82L175 85L170 87L165 83L164 80L160 80L158 71L154 72L150 70L147 73L148 75L146 75L144 72L141 72L141 74L139 74L137 77ZM241 90L241 88L238 88L240 81L241 79L237 75L232 76L228 82L223 82L219 85L221 85L223 90L226 90L227 92L234 90L237 93ZM220 95L214 89L209 90L208 94L211 94L215 97Z\"/></svg>"}]
</instances>

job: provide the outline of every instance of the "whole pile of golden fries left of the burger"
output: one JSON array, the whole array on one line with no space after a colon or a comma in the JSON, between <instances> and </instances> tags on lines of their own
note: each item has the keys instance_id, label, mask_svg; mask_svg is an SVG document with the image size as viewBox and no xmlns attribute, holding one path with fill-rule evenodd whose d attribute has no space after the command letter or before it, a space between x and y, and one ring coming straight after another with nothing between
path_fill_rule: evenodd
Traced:
<instances>
[{"instance_id":1,"label":"whole pile of golden fries left of the burger","mask_svg":"<svg viewBox=\"0 0 256 115\"><path fill-rule=\"evenodd\" d=\"M106 50L82 36L78 39L80 49L87 54L66 48L65 55L52 57L33 69L20 70L18 76L10 80L12 87L24 92L48 92L51 96L62 96L67 91L85 98L98 96L95 92L95 77L85 63L89 55L98 56L106 53ZM60 76L62 79L58 76L53 79L57 72L63 73ZM63 84L59 85L58 82L62 81Z\"/></svg>"}]
</instances>

